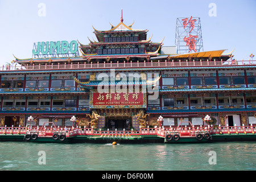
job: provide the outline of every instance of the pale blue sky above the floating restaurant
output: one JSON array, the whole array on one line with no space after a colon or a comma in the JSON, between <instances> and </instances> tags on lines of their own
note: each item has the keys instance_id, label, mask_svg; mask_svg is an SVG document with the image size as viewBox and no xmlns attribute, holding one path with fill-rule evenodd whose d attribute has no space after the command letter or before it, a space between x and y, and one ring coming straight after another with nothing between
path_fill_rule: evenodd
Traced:
<instances>
[{"instance_id":1,"label":"pale blue sky above the floating restaurant","mask_svg":"<svg viewBox=\"0 0 256 182\"><path fill-rule=\"evenodd\" d=\"M46 5L46 16L39 16L39 3ZM209 16L210 3L216 16ZM152 42L165 37L164 46L175 45L176 18L200 17L204 51L228 49L237 60L256 55L255 0L0 0L0 65L14 60L13 54L32 57L34 42L79 40L88 44L96 39L93 28L109 30L110 24L133 23L134 29L147 29ZM254 60L256 57L254 57Z\"/></svg>"}]
</instances>

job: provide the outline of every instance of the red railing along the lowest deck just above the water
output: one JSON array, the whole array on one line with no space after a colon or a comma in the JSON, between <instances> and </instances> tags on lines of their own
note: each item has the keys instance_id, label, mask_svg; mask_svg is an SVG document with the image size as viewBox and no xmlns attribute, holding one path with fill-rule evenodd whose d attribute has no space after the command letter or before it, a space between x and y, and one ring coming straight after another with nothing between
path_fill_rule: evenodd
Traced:
<instances>
[{"instance_id":1,"label":"red railing along the lowest deck just above the water","mask_svg":"<svg viewBox=\"0 0 256 182\"><path fill-rule=\"evenodd\" d=\"M139 135L158 135L165 137L166 134L179 134L180 137L195 137L197 133L209 134L254 134L256 133L256 126L200 126L200 127L156 127L156 128L142 128L139 130L93 130L91 128L80 127L0 127L0 134L20 134L25 135L27 132L36 133L38 137L52 137L53 133L63 133L66 137L76 135L92 135L95 137L132 137Z\"/></svg>"}]
</instances>

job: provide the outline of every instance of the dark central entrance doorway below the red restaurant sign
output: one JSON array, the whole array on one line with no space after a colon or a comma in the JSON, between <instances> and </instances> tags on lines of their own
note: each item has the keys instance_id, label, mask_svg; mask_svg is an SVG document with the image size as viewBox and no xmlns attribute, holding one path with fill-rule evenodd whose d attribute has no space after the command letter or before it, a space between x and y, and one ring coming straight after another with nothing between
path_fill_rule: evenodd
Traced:
<instances>
[{"instance_id":1,"label":"dark central entrance doorway below the red restaurant sign","mask_svg":"<svg viewBox=\"0 0 256 182\"><path fill-rule=\"evenodd\" d=\"M110 130L123 130L130 129L131 119L130 118L108 118L106 123L107 128Z\"/></svg>"}]
</instances>

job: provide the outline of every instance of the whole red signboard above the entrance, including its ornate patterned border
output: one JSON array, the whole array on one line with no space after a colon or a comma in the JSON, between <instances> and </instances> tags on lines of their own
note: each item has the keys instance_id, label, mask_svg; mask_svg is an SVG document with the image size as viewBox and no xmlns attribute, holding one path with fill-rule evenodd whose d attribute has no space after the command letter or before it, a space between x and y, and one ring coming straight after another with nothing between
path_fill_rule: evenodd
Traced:
<instances>
[{"instance_id":1,"label":"whole red signboard above the entrance, including its ornate patterned border","mask_svg":"<svg viewBox=\"0 0 256 182\"><path fill-rule=\"evenodd\" d=\"M90 108L144 108L144 93L98 93L90 92Z\"/></svg>"}]
</instances>

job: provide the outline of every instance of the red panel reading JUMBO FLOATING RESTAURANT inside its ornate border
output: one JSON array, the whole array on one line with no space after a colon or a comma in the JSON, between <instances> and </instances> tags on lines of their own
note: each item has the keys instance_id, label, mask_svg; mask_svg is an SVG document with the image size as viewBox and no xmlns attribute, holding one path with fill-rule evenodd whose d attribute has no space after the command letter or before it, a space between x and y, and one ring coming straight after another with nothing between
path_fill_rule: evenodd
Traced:
<instances>
[{"instance_id":1,"label":"red panel reading JUMBO FLOATING RESTAURANT inside its ornate border","mask_svg":"<svg viewBox=\"0 0 256 182\"><path fill-rule=\"evenodd\" d=\"M143 104L143 93L93 93L94 106Z\"/></svg>"}]
</instances>

